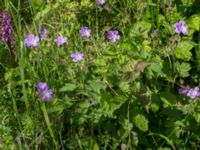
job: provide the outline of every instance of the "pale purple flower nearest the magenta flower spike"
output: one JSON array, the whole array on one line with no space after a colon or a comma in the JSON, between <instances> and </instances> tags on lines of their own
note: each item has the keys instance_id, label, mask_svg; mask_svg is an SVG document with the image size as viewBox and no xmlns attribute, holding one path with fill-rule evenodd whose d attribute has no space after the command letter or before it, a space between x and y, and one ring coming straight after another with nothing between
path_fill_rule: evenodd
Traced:
<instances>
[{"instance_id":1,"label":"pale purple flower nearest the magenta flower spike","mask_svg":"<svg viewBox=\"0 0 200 150\"><path fill-rule=\"evenodd\" d=\"M39 37L35 36L34 34L29 34L24 40L24 44L27 47L30 46L36 47L38 45L38 42L39 42Z\"/></svg>"}]
</instances>

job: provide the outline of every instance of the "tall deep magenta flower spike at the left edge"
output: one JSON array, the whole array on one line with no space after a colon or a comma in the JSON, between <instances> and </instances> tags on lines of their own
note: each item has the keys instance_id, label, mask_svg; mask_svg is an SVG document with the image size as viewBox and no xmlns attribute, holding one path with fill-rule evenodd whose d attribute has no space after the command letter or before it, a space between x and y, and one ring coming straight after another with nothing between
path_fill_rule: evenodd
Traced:
<instances>
[{"instance_id":1,"label":"tall deep magenta flower spike at the left edge","mask_svg":"<svg viewBox=\"0 0 200 150\"><path fill-rule=\"evenodd\" d=\"M12 35L12 20L11 16L8 11L3 11L3 13L0 15L1 20L1 35L2 35L2 41L6 43L10 43L13 41L11 35Z\"/></svg>"}]
</instances>

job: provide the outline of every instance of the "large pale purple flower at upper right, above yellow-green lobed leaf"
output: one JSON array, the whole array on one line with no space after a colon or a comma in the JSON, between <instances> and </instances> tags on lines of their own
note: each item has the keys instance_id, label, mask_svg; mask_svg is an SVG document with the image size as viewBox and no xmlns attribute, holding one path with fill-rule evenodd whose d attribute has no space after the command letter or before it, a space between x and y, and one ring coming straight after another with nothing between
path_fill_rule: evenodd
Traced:
<instances>
[{"instance_id":1,"label":"large pale purple flower at upper right, above yellow-green lobed leaf","mask_svg":"<svg viewBox=\"0 0 200 150\"><path fill-rule=\"evenodd\" d=\"M175 32L180 34L183 33L184 35L188 34L188 26L185 25L185 21L181 20L174 24Z\"/></svg>"}]
</instances>

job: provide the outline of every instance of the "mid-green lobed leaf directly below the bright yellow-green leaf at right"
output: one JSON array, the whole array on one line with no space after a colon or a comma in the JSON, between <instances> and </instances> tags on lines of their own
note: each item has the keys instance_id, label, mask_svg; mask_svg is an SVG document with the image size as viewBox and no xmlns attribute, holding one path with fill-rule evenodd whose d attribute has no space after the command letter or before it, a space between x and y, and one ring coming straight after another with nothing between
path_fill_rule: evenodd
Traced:
<instances>
[{"instance_id":1,"label":"mid-green lobed leaf directly below the bright yellow-green leaf at right","mask_svg":"<svg viewBox=\"0 0 200 150\"><path fill-rule=\"evenodd\" d=\"M175 68L180 77L188 77L190 75L189 71L191 69L191 66L189 63L183 62L180 64L179 62L176 62Z\"/></svg>"}]
</instances>

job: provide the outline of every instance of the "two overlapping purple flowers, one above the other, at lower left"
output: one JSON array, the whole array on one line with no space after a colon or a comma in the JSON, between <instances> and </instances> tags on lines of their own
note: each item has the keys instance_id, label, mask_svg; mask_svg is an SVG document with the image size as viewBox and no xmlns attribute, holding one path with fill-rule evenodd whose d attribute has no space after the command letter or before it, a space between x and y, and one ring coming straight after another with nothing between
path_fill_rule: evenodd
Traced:
<instances>
[{"instance_id":1,"label":"two overlapping purple flowers, one above the other, at lower left","mask_svg":"<svg viewBox=\"0 0 200 150\"><path fill-rule=\"evenodd\" d=\"M40 94L40 99L43 101L50 101L52 99L53 91L49 89L46 82L39 82L37 84L37 89Z\"/></svg>"}]
</instances>

